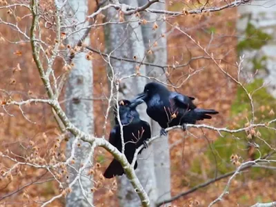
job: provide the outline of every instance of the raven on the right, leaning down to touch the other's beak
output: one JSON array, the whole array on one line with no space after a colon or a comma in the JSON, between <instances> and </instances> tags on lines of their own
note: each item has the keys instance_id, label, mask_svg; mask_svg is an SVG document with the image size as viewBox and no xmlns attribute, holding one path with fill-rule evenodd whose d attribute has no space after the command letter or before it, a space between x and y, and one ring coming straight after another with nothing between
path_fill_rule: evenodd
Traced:
<instances>
[{"instance_id":1,"label":"raven on the right, leaning down to touch the other's beak","mask_svg":"<svg viewBox=\"0 0 276 207\"><path fill-rule=\"evenodd\" d=\"M146 112L150 118L161 126L161 135L166 135L165 128L185 124L195 124L198 120L211 119L210 115L219 112L213 109L197 108L193 103L195 98L169 91L161 83L146 84L144 92L136 97L142 99L148 106Z\"/></svg>"}]
</instances>

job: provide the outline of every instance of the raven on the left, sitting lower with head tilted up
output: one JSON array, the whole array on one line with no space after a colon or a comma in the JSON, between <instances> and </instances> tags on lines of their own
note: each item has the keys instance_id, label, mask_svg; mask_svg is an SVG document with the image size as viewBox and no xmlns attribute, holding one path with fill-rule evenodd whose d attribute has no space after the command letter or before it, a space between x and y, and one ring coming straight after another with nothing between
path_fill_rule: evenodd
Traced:
<instances>
[{"instance_id":1,"label":"raven on the left, sitting lower with head tilted up","mask_svg":"<svg viewBox=\"0 0 276 207\"><path fill-rule=\"evenodd\" d=\"M123 126L123 135L125 150L124 154L131 164L135 155L135 150L144 144L144 148L147 147L146 140L150 138L150 125L148 122L139 118L139 113L136 110L136 106L143 103L141 99L128 101L126 99L119 101L119 118L121 125ZM115 146L121 152L121 128L119 126L119 120L117 119L117 107L115 107L115 126L112 128L109 135L109 142ZM142 148L142 150L144 149ZM141 151L139 151L139 154ZM135 169L137 168L137 161L135 162ZM112 178L115 175L123 175L124 169L117 159L113 159L103 176L106 178Z\"/></svg>"}]
</instances>

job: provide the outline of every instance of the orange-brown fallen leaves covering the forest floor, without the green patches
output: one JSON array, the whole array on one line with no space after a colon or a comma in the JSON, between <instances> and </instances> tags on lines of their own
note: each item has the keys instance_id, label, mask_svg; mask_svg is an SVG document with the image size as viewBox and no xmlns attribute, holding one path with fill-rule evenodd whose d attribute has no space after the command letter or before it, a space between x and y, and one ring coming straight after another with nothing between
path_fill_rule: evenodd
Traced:
<instances>
[{"instance_id":1,"label":"orange-brown fallen leaves covering the forest floor, without the green patches","mask_svg":"<svg viewBox=\"0 0 276 207\"><path fill-rule=\"evenodd\" d=\"M45 3L46 10L54 10L51 8L50 3ZM95 6L90 6L90 13L95 10ZM8 10L7 10L8 11ZM26 10L19 8L17 10L17 18L14 20L12 17L10 21L19 21L21 26L26 26L30 23L30 18L22 19ZM219 16L213 14L200 14L200 15L185 15L183 17L175 17L168 21L175 25L178 24L180 28L187 28L190 34L196 41L199 41L201 46L207 47L210 44L209 50L213 52L214 57L223 59L221 65L233 76L236 74L236 69L233 67L237 58L235 45L237 39L235 38L235 20L237 12L235 9L222 11ZM98 23L103 21L103 17L97 18ZM228 22L228 23L226 23ZM143 19L146 24L146 19ZM231 24L230 24L231 23ZM215 27L216 32L211 37L208 33L208 28ZM154 25L154 30L158 29ZM168 25L168 30L170 26ZM10 30L8 26L1 26L0 33L3 37L14 41L13 37L17 34ZM48 30L42 31L43 36L48 37L48 42L52 41L52 33ZM103 51L104 49L104 35L103 28L92 29L91 44L93 48L98 48ZM181 32L175 30L168 37L168 65L181 65L188 63L191 57L204 56L204 52L195 46L188 37ZM18 41L20 37L15 38ZM212 39L212 42L210 42ZM39 98L46 97L46 91L43 88L41 79L37 68L32 61L32 52L29 43L12 44L8 41L1 42L0 62L1 62L1 83L0 88L3 88L10 93L13 99L21 100L30 97ZM88 59L92 60L94 72L94 112L97 119L95 119L95 135L97 137L108 137L110 132L110 124L105 134L103 134L103 123L105 121L105 113L107 108L106 96L108 96L108 77L106 76L106 62L103 61L100 55L91 53ZM55 73L58 77L61 75L61 63L55 63ZM168 68L166 74L172 83L181 82L179 77L185 79L186 74L193 70L199 70L204 67L204 70L190 77L186 83L177 89L186 95L197 98L198 106L202 108L215 108L219 110L219 115L214 116L210 121L204 121L205 124L213 126L227 126L229 110L235 96L236 86L225 75L223 75L210 59L195 59L190 61L188 66L182 68ZM135 69L134 69L135 70ZM170 90L173 90L170 88ZM61 99L62 100L62 95ZM0 93L0 100L2 103L8 101L8 96L5 92ZM25 112L23 117L21 110L18 106L9 106L5 110L1 110L1 128L0 128L0 151L5 152L11 157L23 161L22 157L32 155L30 162L33 164L43 164L46 161L55 163L58 160L63 160L66 139L63 139L50 107L45 104L30 104L29 106L22 106ZM29 119L29 121L26 120ZM35 124L34 124L35 123ZM189 189L189 168L193 164L193 160L198 157L206 148L208 148L208 140L214 141L217 139L217 134L210 130L190 130L195 137L186 137L186 132L179 132L179 130L170 132L170 148L171 155L171 184L172 195L177 195L184 190ZM57 140L59 137L59 140ZM185 138L184 138L185 137ZM8 149L8 150L6 150ZM57 150L58 149L58 150ZM12 153L11 153L12 152ZM57 155L58 154L58 155ZM99 156L107 156L108 153L102 148L97 149L95 159ZM21 156L21 157L19 157ZM95 193L95 206L116 206L116 189L117 183L115 179L105 180L101 172L106 168L109 159L103 164L98 164L95 168L90 170L90 175L95 176L95 187L91 189ZM12 166L11 161L3 159L0 164L0 170L3 166ZM208 166L208 160L201 161L202 173L204 175L204 168ZM2 173L2 172L1 172ZM65 176L66 169L62 172L53 172L55 176ZM41 184L32 184L21 190L20 193L14 193L6 199L0 201L0 204L6 202L6 206L17 206L20 204L27 204L30 206L40 206L34 200L50 199L54 195L61 193L57 182L52 181L52 176L49 172L43 169L34 170L34 168L26 166L24 168L14 168L10 175L1 180L0 182L0 197L8 195L9 193L18 190L22 186L37 181L47 181ZM50 180L50 181L48 181ZM186 184L183 184L183 183ZM221 180L213 185L210 185L204 190L199 190L196 193L190 194L187 197L181 197L173 204L177 206L194 205L206 206L213 201L220 192L224 189L226 180ZM230 195L224 199L224 206L236 206L237 195L241 193L248 193L251 197L262 193L262 188L257 188L258 181L248 181L246 185L241 188L242 182L235 181L233 187L237 188ZM266 188L266 195L275 198L273 191L273 181L262 182L262 186ZM264 188L263 187L263 188ZM63 195L70 193L70 189L63 190ZM208 195L208 196L207 196ZM63 206L64 197L57 199L51 206ZM222 204L219 204L220 206ZM118 205L117 205L118 206Z\"/></svg>"}]
</instances>

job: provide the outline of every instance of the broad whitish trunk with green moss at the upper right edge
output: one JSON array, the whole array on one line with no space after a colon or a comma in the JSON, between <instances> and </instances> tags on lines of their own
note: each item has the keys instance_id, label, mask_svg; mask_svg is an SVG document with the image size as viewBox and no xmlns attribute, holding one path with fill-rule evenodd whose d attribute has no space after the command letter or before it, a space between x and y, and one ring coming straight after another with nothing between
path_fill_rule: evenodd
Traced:
<instances>
[{"instance_id":1,"label":"broad whitish trunk with green moss at the upper right edge","mask_svg":"<svg viewBox=\"0 0 276 207\"><path fill-rule=\"evenodd\" d=\"M243 34L248 23L253 24L255 28L270 34L273 39L268 41L262 48L257 50L243 50L241 55L245 55L243 64L246 73L254 73L253 59L266 57L264 67L259 70L257 77L263 78L268 83L268 92L276 98L276 6L274 1L264 0L251 2L252 5L238 7L241 18L237 21L237 30Z\"/></svg>"}]
</instances>

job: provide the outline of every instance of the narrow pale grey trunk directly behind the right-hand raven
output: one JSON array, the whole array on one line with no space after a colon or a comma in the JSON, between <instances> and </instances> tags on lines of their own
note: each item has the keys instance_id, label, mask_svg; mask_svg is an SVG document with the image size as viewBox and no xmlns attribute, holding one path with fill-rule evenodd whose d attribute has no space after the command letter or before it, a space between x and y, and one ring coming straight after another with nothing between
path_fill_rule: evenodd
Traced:
<instances>
[{"instance_id":1,"label":"narrow pale grey trunk directly behind the right-hand raven","mask_svg":"<svg viewBox=\"0 0 276 207\"><path fill-rule=\"evenodd\" d=\"M147 0L139 1L139 6L147 3ZM166 10L166 3L154 3L150 7L152 9ZM151 50L152 54L147 53L146 61L157 65L167 65L167 41L166 41L166 22L162 20L162 15L144 12L143 18L148 22L142 26L144 45L146 50ZM153 22L152 22L153 21ZM154 23L157 23L158 28L153 30ZM162 37L161 35L165 36ZM157 42L157 46L153 46ZM166 74L163 69L147 66L146 72L150 77L156 77L160 81L166 83ZM159 135L160 126L156 121L151 119L152 136ZM155 177L157 180L157 202L164 199L170 199L170 148L168 136L160 137L152 143L154 158L155 158ZM166 206L169 206L167 204Z\"/></svg>"}]
</instances>

